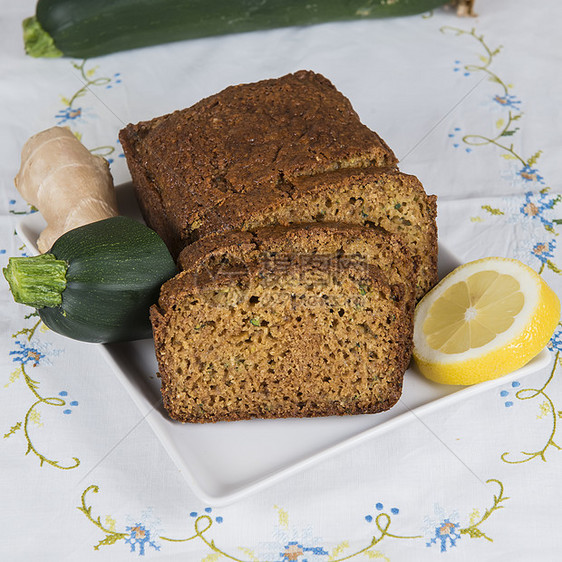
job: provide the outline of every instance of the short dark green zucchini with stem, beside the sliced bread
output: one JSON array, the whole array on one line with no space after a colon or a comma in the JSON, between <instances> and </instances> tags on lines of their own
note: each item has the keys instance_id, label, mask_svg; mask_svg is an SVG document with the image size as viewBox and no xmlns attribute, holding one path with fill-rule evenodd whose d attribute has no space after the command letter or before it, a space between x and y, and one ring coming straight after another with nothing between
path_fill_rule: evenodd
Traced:
<instances>
[{"instance_id":1,"label":"short dark green zucchini with stem, beside the sliced bread","mask_svg":"<svg viewBox=\"0 0 562 562\"><path fill-rule=\"evenodd\" d=\"M70 338L107 343L152 336L149 308L176 274L162 239L147 226L111 217L63 234L39 256L10 258L14 300Z\"/></svg>"}]
</instances>

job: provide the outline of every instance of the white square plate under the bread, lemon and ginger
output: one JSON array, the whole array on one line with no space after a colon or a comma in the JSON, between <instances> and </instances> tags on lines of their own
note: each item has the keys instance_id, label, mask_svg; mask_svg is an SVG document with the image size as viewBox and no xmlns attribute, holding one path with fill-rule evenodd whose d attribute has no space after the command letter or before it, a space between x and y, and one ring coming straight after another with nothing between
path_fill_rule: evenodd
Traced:
<instances>
[{"instance_id":1,"label":"white square plate under the bread, lemon and ginger","mask_svg":"<svg viewBox=\"0 0 562 562\"><path fill-rule=\"evenodd\" d=\"M138 218L129 186L120 187L120 208ZM39 213L25 216L17 231L30 251L45 223ZM458 261L440 247L440 275ZM438 385L410 367L399 402L389 411L358 416L311 419L250 420L214 424L181 424L171 420L160 396L152 340L99 345L117 378L127 389L193 491L209 505L234 502L250 493L455 401L505 384L545 367L543 350L523 368L470 387Z\"/></svg>"}]
</instances>

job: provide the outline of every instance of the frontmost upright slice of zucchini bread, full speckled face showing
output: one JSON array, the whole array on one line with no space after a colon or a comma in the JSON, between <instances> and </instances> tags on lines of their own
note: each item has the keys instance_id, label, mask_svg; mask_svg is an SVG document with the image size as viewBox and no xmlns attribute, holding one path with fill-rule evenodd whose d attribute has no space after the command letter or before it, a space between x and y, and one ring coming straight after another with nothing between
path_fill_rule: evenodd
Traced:
<instances>
[{"instance_id":1,"label":"frontmost upright slice of zucchini bread, full speckled face showing","mask_svg":"<svg viewBox=\"0 0 562 562\"><path fill-rule=\"evenodd\" d=\"M182 422L387 410L410 360L409 293L350 260L181 272L151 309L164 405Z\"/></svg>"}]
</instances>

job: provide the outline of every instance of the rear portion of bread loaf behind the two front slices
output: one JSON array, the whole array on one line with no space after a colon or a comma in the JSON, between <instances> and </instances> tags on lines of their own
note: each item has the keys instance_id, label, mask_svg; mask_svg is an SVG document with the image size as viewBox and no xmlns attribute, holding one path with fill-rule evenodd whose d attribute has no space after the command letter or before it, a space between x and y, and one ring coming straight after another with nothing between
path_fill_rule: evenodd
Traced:
<instances>
[{"instance_id":1,"label":"rear portion of bread loaf behind the two front slices","mask_svg":"<svg viewBox=\"0 0 562 562\"><path fill-rule=\"evenodd\" d=\"M299 71L231 86L128 125L123 150L145 220L178 255L231 230L343 221L398 233L436 281L436 202L323 76Z\"/></svg>"}]
</instances>

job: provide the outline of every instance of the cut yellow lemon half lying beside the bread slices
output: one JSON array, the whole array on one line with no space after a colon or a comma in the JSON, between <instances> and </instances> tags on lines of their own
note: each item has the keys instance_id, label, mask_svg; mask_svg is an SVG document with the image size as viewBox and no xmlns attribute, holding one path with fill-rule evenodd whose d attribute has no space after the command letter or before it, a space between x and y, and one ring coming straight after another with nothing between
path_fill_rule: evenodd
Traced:
<instances>
[{"instance_id":1,"label":"cut yellow lemon half lying beside the bread slices","mask_svg":"<svg viewBox=\"0 0 562 562\"><path fill-rule=\"evenodd\" d=\"M560 300L520 261L462 265L418 303L414 358L435 382L468 385L519 369L548 343Z\"/></svg>"}]
</instances>

